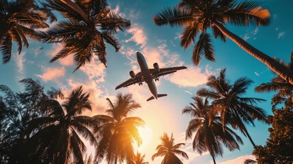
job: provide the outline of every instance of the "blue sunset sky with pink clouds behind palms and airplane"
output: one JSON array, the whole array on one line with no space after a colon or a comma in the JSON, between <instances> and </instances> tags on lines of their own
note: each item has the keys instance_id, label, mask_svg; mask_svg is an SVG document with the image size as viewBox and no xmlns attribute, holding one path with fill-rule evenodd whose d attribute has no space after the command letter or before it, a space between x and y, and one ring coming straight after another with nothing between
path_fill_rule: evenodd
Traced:
<instances>
[{"instance_id":1,"label":"blue sunset sky with pink clouds behind palms and airplane","mask_svg":"<svg viewBox=\"0 0 293 164\"><path fill-rule=\"evenodd\" d=\"M271 13L270 25L267 27L235 27L227 25L227 29L266 53L270 57L277 57L289 61L293 51L293 21L290 18L293 1L283 0L259 0L264 8ZM133 98L141 105L132 116L138 116L145 121L143 145L138 150L145 154L145 161L161 163L163 158L151 160L156 146L160 143L160 136L167 133L175 137L176 143L186 143L182 148L188 155L189 160L182 159L183 163L212 163L208 152L199 155L192 149L192 141L185 140L185 130L191 118L182 115L182 109L193 102L192 96L199 88L205 87L207 77L210 74L218 74L220 69L227 68L227 78L234 82L240 77L248 77L254 83L247 90L246 97L264 98L267 101L259 104L267 114L271 114L270 99L273 93L255 93L254 87L260 83L268 82L273 73L260 61L240 49L234 42L227 40L212 39L216 62L201 60L199 66L191 62L192 47L184 49L180 47L180 33L182 27L158 27L152 17L161 12L167 6L173 6L178 0L143 1L143 0L109 0L111 9L130 20L131 27L126 32L117 33L121 43L120 52L107 46L107 68L97 58L91 64L73 73L74 62L71 56L55 61L49 60L61 49L59 44L42 44L29 40L29 48L23 49L18 55L16 44L12 51L12 59L8 64L0 64L0 83L8 85L18 92L23 86L18 83L21 79L31 78L39 80L47 89L57 87L65 93L79 85L90 93L93 111L85 115L104 114L107 109L107 100L114 100L119 92L133 94ZM180 70L174 74L161 77L156 81L158 94L168 94L158 100L146 102L151 94L145 83L141 86L132 85L127 88L115 90L120 83L130 78L129 71L139 72L136 60L136 52L141 52L149 68L158 63L160 68L170 66L186 66L186 70ZM268 125L255 122L255 127L248 125L248 131L257 145L264 145L269 135ZM225 149L223 156L217 156L217 163L241 163L245 159L255 159L251 155L253 146L249 140L239 133L244 144L240 150L229 152ZM89 148L89 150L91 150Z\"/></svg>"}]
</instances>

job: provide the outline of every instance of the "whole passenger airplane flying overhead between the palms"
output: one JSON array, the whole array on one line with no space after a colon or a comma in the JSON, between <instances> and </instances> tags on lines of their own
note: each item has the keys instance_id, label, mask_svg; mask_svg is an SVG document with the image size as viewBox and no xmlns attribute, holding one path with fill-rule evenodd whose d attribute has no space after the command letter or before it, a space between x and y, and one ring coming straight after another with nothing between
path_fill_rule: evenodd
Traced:
<instances>
[{"instance_id":1,"label":"whole passenger airplane flying overhead between the palms","mask_svg":"<svg viewBox=\"0 0 293 164\"><path fill-rule=\"evenodd\" d=\"M121 87L128 87L129 85L138 83L139 85L143 85L143 81L148 84L148 88L150 92L152 93L152 96L148 98L149 100L154 100L154 98L158 99L163 96L167 96L167 94L158 94L156 91L156 84L154 81L158 81L159 77L170 74L173 72L177 72L177 70L183 70L186 69L185 66L179 66L179 67L170 67L170 68L159 68L157 63L154 63L154 68L148 68L148 64L145 61L145 57L140 52L137 52L137 61L139 63L139 67L141 68L141 72L138 72L135 74L133 70L129 72L130 79L127 81L124 81L124 83L121 83L117 87L115 87L115 90L121 88Z\"/></svg>"}]
</instances>

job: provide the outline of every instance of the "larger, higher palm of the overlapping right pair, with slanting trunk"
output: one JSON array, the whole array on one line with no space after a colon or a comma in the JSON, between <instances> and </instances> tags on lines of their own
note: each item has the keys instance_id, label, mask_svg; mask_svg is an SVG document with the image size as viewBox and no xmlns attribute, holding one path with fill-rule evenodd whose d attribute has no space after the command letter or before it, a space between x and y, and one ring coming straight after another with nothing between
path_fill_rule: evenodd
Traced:
<instances>
[{"instance_id":1,"label":"larger, higher palm of the overlapping right pair, with slanting trunk","mask_svg":"<svg viewBox=\"0 0 293 164\"><path fill-rule=\"evenodd\" d=\"M220 70L219 77L215 77L214 75L208 77L206 85L211 90L209 88L201 88L197 91L197 95L213 100L211 113L212 115L217 115L217 113L221 114L223 131L225 131L227 124L231 124L233 128L240 128L240 131L249 138L255 147L255 143L251 139L244 122L255 126L253 123L255 119L261 121L266 120L264 109L255 106L257 102L264 101L264 99L241 97L253 81L242 77L236 79L233 84L230 84L225 73L226 68Z\"/></svg>"}]
</instances>

